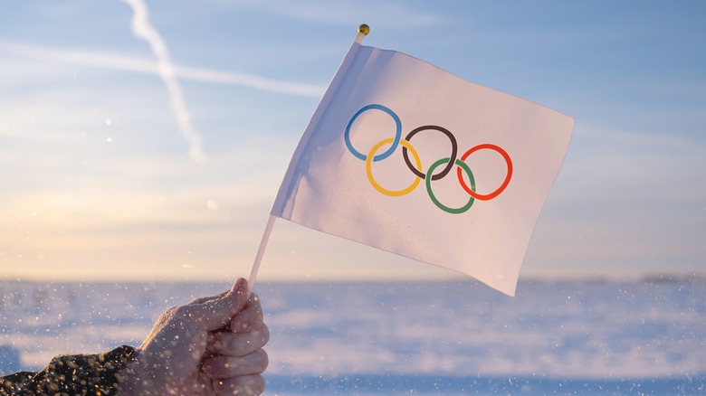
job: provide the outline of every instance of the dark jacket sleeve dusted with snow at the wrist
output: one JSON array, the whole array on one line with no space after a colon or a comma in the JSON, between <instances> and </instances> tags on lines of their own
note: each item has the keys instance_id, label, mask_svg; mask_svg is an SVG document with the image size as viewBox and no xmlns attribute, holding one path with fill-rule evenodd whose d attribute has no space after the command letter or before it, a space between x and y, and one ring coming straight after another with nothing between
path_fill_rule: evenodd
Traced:
<instances>
[{"instance_id":1,"label":"dark jacket sleeve dusted with snow at the wrist","mask_svg":"<svg viewBox=\"0 0 706 396\"><path fill-rule=\"evenodd\" d=\"M57 356L41 372L0 377L0 395L117 395L120 372L134 356L128 345L103 354Z\"/></svg>"}]
</instances>

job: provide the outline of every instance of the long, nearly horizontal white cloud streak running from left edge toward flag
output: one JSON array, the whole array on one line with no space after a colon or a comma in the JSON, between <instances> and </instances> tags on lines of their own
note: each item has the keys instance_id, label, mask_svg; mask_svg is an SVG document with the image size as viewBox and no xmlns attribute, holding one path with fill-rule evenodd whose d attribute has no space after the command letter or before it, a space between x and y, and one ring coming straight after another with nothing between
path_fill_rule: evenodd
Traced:
<instances>
[{"instance_id":1,"label":"long, nearly horizontal white cloud streak running from left edge toward flag","mask_svg":"<svg viewBox=\"0 0 706 396\"><path fill-rule=\"evenodd\" d=\"M57 49L42 45L0 40L0 51L10 52L29 58L59 61L81 66L131 71L158 75L157 62L128 55L93 50ZM173 64L174 73L182 80L192 80L213 84L236 85L253 90L301 96L318 99L326 87L296 81L274 80L253 74L234 71L215 71L199 67Z\"/></svg>"}]
</instances>

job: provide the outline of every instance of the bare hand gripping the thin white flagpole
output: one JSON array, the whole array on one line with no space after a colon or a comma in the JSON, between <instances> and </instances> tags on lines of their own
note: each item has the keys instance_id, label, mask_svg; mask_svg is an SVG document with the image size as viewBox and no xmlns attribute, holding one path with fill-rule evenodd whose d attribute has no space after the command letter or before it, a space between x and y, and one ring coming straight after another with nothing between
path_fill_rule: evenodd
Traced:
<instances>
[{"instance_id":1,"label":"bare hand gripping the thin white flagpole","mask_svg":"<svg viewBox=\"0 0 706 396\"><path fill-rule=\"evenodd\" d=\"M247 282L159 316L137 359L125 371L121 395L259 395L270 333Z\"/></svg>"}]
</instances>

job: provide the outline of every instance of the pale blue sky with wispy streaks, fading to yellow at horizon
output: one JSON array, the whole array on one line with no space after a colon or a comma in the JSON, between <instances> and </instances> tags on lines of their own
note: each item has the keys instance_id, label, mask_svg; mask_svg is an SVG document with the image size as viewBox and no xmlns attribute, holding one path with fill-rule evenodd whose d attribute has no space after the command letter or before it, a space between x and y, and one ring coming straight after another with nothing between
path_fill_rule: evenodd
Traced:
<instances>
[{"instance_id":1,"label":"pale blue sky with wispy streaks, fading to yellow at horizon","mask_svg":"<svg viewBox=\"0 0 706 396\"><path fill-rule=\"evenodd\" d=\"M703 274L704 20L698 1L5 2L0 278L246 277L362 23L575 118L520 279ZM459 277L278 220L258 279Z\"/></svg>"}]
</instances>

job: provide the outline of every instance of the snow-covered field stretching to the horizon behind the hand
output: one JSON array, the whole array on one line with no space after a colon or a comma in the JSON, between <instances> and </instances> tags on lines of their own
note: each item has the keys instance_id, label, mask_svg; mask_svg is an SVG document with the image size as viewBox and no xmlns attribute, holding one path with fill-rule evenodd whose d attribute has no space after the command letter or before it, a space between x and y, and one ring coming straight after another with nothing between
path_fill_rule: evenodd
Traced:
<instances>
[{"instance_id":1,"label":"snow-covered field stretching to the horizon behind the hand","mask_svg":"<svg viewBox=\"0 0 706 396\"><path fill-rule=\"evenodd\" d=\"M0 372L136 345L227 283L0 282ZM270 395L706 394L706 282L259 283Z\"/></svg>"}]
</instances>

